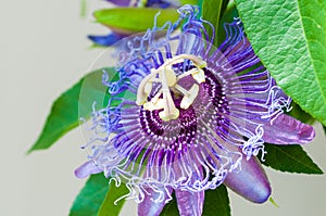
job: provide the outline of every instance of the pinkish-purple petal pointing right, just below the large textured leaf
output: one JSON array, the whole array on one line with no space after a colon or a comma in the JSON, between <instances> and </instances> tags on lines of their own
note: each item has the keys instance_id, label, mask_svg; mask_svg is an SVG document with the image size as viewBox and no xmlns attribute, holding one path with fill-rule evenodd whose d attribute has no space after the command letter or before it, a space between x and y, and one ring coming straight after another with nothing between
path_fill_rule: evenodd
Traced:
<instances>
[{"instance_id":1,"label":"pinkish-purple petal pointing right, just below the large textured leaf","mask_svg":"<svg viewBox=\"0 0 326 216\"><path fill-rule=\"evenodd\" d=\"M264 125L263 139L275 144L304 144L311 142L315 137L315 130L296 118L281 114L273 125Z\"/></svg>"}]
</instances>

